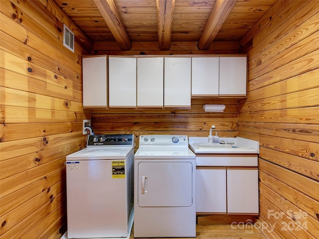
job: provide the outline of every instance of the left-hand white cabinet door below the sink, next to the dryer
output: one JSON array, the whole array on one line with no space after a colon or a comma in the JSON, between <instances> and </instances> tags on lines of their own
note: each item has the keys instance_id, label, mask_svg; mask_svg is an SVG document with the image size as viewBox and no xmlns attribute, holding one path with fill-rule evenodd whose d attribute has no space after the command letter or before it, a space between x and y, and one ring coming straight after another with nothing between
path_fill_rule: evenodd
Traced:
<instances>
[{"instance_id":1,"label":"left-hand white cabinet door below the sink, next to the dryer","mask_svg":"<svg viewBox=\"0 0 319 239\"><path fill-rule=\"evenodd\" d=\"M226 168L196 169L196 213L226 213Z\"/></svg>"}]
</instances>

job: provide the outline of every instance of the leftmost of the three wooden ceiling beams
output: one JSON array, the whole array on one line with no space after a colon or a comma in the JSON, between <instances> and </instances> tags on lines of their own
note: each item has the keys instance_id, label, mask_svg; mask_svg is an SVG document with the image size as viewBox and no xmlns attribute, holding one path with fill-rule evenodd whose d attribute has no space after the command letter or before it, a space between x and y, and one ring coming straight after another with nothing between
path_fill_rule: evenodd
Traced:
<instances>
[{"instance_id":1,"label":"leftmost of the three wooden ceiling beams","mask_svg":"<svg viewBox=\"0 0 319 239\"><path fill-rule=\"evenodd\" d=\"M122 50L130 50L132 43L113 0L93 0Z\"/></svg>"}]
</instances>

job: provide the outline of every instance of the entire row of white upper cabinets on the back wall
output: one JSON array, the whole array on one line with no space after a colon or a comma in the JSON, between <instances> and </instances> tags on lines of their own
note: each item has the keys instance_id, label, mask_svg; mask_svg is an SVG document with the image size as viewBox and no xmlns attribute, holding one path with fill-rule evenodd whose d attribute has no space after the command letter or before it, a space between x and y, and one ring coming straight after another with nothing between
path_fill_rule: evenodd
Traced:
<instances>
[{"instance_id":1,"label":"entire row of white upper cabinets on the back wall","mask_svg":"<svg viewBox=\"0 0 319 239\"><path fill-rule=\"evenodd\" d=\"M247 56L84 56L83 107L190 108L247 97Z\"/></svg>"}]
</instances>

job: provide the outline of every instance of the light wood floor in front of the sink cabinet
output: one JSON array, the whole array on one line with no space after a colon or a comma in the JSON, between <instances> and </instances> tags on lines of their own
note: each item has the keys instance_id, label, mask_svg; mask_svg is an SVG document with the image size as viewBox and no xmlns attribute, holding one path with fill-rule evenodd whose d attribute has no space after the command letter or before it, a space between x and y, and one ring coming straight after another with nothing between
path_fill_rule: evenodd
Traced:
<instances>
[{"instance_id":1,"label":"light wood floor in front of the sink cabinet","mask_svg":"<svg viewBox=\"0 0 319 239\"><path fill-rule=\"evenodd\" d=\"M130 239L134 239L133 231L134 229ZM256 227L245 229L237 225L209 225L196 226L196 239L267 239L267 237Z\"/></svg>"}]
</instances>

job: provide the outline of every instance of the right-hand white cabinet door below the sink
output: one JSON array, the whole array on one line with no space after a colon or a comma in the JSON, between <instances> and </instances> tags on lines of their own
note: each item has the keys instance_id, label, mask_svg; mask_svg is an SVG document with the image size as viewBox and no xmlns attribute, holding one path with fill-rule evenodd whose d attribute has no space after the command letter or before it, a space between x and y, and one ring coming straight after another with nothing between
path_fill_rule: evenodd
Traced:
<instances>
[{"instance_id":1,"label":"right-hand white cabinet door below the sink","mask_svg":"<svg viewBox=\"0 0 319 239\"><path fill-rule=\"evenodd\" d=\"M227 213L259 213L257 168L227 168Z\"/></svg>"}]
</instances>

